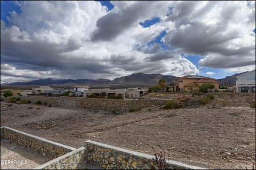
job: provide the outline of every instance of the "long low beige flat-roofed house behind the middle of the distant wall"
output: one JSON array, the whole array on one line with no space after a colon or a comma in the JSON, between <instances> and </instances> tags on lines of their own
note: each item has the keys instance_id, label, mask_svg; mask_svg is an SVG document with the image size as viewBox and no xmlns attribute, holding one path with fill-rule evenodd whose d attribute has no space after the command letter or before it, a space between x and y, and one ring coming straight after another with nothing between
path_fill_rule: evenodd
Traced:
<instances>
[{"instance_id":1,"label":"long low beige flat-roofed house behind the middle of the distant wall","mask_svg":"<svg viewBox=\"0 0 256 170\"><path fill-rule=\"evenodd\" d=\"M121 95L122 98L125 98L125 91L124 90L109 90L109 89L94 89L94 90L84 90L84 97L87 97L91 94L95 94L97 96L101 95L102 92L107 93L107 97L110 95Z\"/></svg>"}]
</instances>

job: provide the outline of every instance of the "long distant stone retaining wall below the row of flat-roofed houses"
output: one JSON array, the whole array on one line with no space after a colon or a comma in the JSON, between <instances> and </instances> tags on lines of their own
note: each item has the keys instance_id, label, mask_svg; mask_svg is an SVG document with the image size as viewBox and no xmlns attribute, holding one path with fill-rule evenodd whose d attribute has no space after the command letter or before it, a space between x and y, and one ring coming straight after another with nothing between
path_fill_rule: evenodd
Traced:
<instances>
[{"instance_id":1,"label":"long distant stone retaining wall below the row of flat-roofed houses","mask_svg":"<svg viewBox=\"0 0 256 170\"><path fill-rule=\"evenodd\" d=\"M123 100L123 99L95 99L95 98L74 98L61 96L60 98L52 98L45 96L19 96L21 100L30 100L34 103L38 100L42 103L52 104L53 107L65 108L84 108L93 110L119 110L127 111L131 108L141 109L150 106L162 106L166 100L140 99L140 100ZM1 99L6 101L9 98Z\"/></svg>"}]
</instances>

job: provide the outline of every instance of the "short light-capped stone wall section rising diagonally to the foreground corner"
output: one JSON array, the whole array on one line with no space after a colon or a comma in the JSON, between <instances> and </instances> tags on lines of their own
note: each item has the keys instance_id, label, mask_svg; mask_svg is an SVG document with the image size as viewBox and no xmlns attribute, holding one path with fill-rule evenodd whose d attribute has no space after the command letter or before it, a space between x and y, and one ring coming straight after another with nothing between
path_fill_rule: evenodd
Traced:
<instances>
[{"instance_id":1,"label":"short light-capped stone wall section rising diagonally to the foreground corner","mask_svg":"<svg viewBox=\"0 0 256 170\"><path fill-rule=\"evenodd\" d=\"M85 169L85 148L81 147L34 169Z\"/></svg>"}]
</instances>

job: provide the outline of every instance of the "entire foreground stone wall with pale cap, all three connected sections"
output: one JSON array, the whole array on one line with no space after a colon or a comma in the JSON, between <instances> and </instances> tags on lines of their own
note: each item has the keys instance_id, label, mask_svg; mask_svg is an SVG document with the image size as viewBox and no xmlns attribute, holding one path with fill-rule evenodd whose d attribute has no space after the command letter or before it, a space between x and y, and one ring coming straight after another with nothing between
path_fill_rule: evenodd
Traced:
<instances>
[{"instance_id":1,"label":"entire foreground stone wall with pale cap, all three connected sections","mask_svg":"<svg viewBox=\"0 0 256 170\"><path fill-rule=\"evenodd\" d=\"M158 169L154 156L87 140L81 148L71 148L16 129L1 127L1 139L13 141L22 147L51 157L53 160L34 169ZM55 159L54 159L55 158ZM170 169L204 169L168 160Z\"/></svg>"}]
</instances>

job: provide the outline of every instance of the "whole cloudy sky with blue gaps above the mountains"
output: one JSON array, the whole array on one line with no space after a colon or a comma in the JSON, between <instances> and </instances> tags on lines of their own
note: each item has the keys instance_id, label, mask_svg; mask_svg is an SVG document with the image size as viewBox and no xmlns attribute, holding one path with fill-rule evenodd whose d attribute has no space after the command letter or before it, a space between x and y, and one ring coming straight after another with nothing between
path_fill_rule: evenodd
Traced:
<instances>
[{"instance_id":1,"label":"whole cloudy sky with blue gaps above the mountains","mask_svg":"<svg viewBox=\"0 0 256 170\"><path fill-rule=\"evenodd\" d=\"M1 1L1 84L255 69L255 1Z\"/></svg>"}]
</instances>

